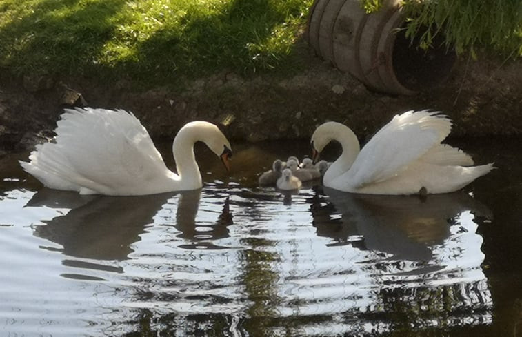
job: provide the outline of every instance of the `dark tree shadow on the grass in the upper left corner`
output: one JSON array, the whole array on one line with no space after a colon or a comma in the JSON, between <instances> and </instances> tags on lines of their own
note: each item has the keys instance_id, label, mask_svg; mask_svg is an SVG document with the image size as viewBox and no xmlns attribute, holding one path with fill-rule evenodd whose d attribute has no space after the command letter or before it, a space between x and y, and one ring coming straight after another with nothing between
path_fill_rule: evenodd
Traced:
<instances>
[{"instance_id":1,"label":"dark tree shadow on the grass in the upper left corner","mask_svg":"<svg viewBox=\"0 0 522 337\"><path fill-rule=\"evenodd\" d=\"M46 0L31 14L12 13L0 29L0 66L14 74L84 75L113 36L113 17L126 1ZM9 10L4 5L3 10Z\"/></svg>"}]
</instances>

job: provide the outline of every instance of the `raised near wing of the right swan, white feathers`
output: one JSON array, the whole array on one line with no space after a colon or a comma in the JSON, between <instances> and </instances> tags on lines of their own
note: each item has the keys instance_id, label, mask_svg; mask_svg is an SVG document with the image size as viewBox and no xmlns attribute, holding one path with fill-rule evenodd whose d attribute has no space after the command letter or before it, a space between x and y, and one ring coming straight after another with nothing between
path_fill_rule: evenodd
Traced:
<instances>
[{"instance_id":1,"label":"raised near wing of the right swan, white feathers","mask_svg":"<svg viewBox=\"0 0 522 337\"><path fill-rule=\"evenodd\" d=\"M439 112L396 115L363 147L343 179L354 188L384 181L443 141L451 125Z\"/></svg>"}]
</instances>

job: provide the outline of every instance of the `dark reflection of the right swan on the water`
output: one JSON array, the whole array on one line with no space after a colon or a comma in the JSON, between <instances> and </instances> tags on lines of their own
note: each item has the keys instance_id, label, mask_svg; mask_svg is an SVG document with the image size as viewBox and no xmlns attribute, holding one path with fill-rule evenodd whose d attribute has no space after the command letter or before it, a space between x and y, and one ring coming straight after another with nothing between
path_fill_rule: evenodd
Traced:
<instances>
[{"instance_id":1,"label":"dark reflection of the right swan on the water","mask_svg":"<svg viewBox=\"0 0 522 337\"><path fill-rule=\"evenodd\" d=\"M350 194L323 187L325 203L312 204L318 236L330 245L351 244L408 261L430 261L450 227L463 214L492 218L487 207L464 192L420 196Z\"/></svg>"}]
</instances>

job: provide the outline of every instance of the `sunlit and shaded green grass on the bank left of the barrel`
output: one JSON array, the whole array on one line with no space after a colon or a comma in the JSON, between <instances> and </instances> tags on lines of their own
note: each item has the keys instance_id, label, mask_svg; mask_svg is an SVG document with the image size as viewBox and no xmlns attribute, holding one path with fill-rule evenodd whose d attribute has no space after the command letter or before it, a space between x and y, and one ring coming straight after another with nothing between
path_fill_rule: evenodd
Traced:
<instances>
[{"instance_id":1,"label":"sunlit and shaded green grass on the bank left of the barrel","mask_svg":"<svg viewBox=\"0 0 522 337\"><path fill-rule=\"evenodd\" d=\"M0 0L0 68L176 84L296 68L312 0Z\"/></svg>"}]
</instances>

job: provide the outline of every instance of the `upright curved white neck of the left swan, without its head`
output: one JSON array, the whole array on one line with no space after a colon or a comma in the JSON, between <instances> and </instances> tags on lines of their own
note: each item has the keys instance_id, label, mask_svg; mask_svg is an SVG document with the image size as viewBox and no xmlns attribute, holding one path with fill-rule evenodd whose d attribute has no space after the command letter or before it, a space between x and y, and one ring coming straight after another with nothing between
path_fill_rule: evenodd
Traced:
<instances>
[{"instance_id":1,"label":"upright curved white neck of the left swan, without its head","mask_svg":"<svg viewBox=\"0 0 522 337\"><path fill-rule=\"evenodd\" d=\"M172 154L176 162L176 170L181 185L187 190L197 189L203 186L201 173L194 156L194 144L198 141L196 132L189 129L181 129L174 143L172 143Z\"/></svg>"}]
</instances>

